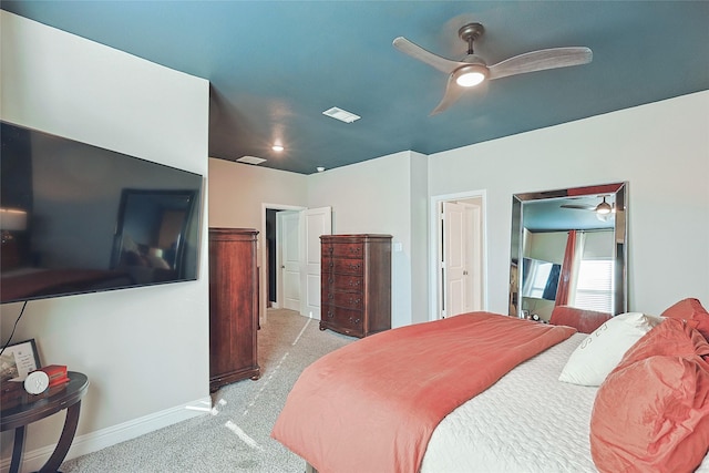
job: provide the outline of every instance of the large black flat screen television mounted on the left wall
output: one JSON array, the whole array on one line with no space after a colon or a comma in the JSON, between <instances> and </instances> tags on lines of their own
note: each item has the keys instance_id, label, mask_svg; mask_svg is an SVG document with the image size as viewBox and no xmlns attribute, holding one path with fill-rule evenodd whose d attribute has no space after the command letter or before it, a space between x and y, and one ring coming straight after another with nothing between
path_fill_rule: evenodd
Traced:
<instances>
[{"instance_id":1,"label":"large black flat screen television mounted on the left wall","mask_svg":"<svg viewBox=\"0 0 709 473\"><path fill-rule=\"evenodd\" d=\"M0 124L1 304L197 279L203 176Z\"/></svg>"}]
</instances>

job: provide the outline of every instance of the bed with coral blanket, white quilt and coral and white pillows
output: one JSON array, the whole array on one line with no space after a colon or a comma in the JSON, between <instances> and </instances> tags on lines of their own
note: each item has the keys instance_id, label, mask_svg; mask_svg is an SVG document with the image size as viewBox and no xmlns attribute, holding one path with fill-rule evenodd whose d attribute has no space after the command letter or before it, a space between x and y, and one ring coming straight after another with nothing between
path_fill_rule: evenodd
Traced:
<instances>
[{"instance_id":1,"label":"bed with coral blanket, white quilt and coral and white pillows","mask_svg":"<svg viewBox=\"0 0 709 473\"><path fill-rule=\"evenodd\" d=\"M428 322L382 332L350 343L306 369L291 390L271 435L320 473L634 469L709 472L706 459L709 364L705 360L709 357L709 343L698 330L709 328L709 313L702 312L700 305L697 313L689 313L687 310L697 308L692 304L681 302L675 313L664 312L665 318L638 312L623 315L602 323L590 335L565 326L489 312L471 312L445 319L449 322ZM687 319L693 316L707 326L688 323ZM449 347L452 350L449 353L435 354L431 346L415 338L446 331L444 325L450 326L448 331L463 339L479 337L481 323L487 320L494 328L482 336L486 340L476 339L471 343L473 339L467 338L464 343ZM500 332L497 336L495 330ZM513 337L510 345L505 339L518 331L532 333L534 349L515 353L517 350L510 348L520 341ZM414 341L407 346L401 339L408 339L410 332L414 333ZM540 345L541 338L546 340ZM440 350L433 351L443 351L444 345L448 346L441 343ZM495 373L480 366L470 369L464 362L454 362L479 356L467 351L467 345L484 347L482 351L493 353L482 358L486 364L496 363L495 358L506 359L507 353L515 361L510 366L510 360L505 360L502 371ZM507 348L497 352L491 349L505 345ZM414 364L413 374L401 374L403 378L399 372L408 370L400 361L393 361L402 347L410 352L404 357L404 364ZM661 347L660 352L657 347ZM422 352L420 361L412 361L417 360L412 351ZM351 363L348 359L352 359ZM440 369L430 370L425 360L431 359ZM653 378L648 372L657 371L648 360L674 363L659 370L662 373L685 369L678 378L685 388L688 385L686 368L691 368L693 384L689 384L693 390L685 389L682 392L691 392L679 400L677 390L653 391L654 387L666 383L648 384ZM361 366L367 368L359 370ZM347 379L356 371L362 371L359 378ZM419 389L417 377L425 378L422 384L427 388ZM563 377L567 380L559 381ZM627 388L628 379L640 392ZM377 391L381 385L384 394L380 399ZM462 400L449 399L451 391L450 397L456 398L471 387L480 392L464 394ZM387 390L395 395L387 394ZM629 394L633 402L616 402L625 394ZM644 401L657 404L657 399L665 401L648 408L653 412L649 420L647 411L636 409ZM672 418L678 402L684 402L685 408L689 403L679 421ZM436 404L445 404L445 412L431 413L431 404L433 411ZM675 413L666 414L668 410ZM633 415L645 421L625 432L618 428L619 419L628 422ZM657 419L669 418L672 422L660 425L658 438Z\"/></svg>"}]
</instances>

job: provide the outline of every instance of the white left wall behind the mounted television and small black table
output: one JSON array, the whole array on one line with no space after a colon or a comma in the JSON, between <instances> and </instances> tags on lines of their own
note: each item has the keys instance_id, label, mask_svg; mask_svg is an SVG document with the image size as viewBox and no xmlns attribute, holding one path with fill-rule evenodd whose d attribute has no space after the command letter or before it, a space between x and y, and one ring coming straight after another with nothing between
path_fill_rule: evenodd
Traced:
<instances>
[{"instance_id":1,"label":"white left wall behind the mounted television and small black table","mask_svg":"<svg viewBox=\"0 0 709 473\"><path fill-rule=\"evenodd\" d=\"M206 177L207 81L0 16L2 120ZM91 382L69 457L192 417L186 405L209 400L206 222L205 213L197 281L28 304L13 339L35 339L45 364ZM3 342L20 308L0 306ZM62 424L61 414L30 424L27 470L41 466ZM3 464L11 444L3 432Z\"/></svg>"}]
</instances>

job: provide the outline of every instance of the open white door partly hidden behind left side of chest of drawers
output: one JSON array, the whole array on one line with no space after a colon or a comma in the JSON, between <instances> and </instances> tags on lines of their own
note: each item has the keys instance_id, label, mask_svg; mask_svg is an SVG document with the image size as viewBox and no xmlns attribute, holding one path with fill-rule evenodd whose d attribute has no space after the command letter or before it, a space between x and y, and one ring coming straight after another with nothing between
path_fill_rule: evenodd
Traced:
<instances>
[{"instance_id":1,"label":"open white door partly hidden behind left side of chest of drawers","mask_svg":"<svg viewBox=\"0 0 709 473\"><path fill-rule=\"evenodd\" d=\"M320 319L320 235L332 234L332 209L309 208L300 213L302 259L300 286L305 288L300 315Z\"/></svg>"}]
</instances>

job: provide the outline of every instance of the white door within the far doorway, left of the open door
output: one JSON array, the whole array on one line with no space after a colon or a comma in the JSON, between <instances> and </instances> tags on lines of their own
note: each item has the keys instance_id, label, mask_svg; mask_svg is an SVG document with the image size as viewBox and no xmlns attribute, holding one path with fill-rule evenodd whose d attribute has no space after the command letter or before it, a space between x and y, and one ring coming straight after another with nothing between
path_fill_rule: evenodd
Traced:
<instances>
[{"instance_id":1,"label":"white door within the far doorway, left of the open door","mask_svg":"<svg viewBox=\"0 0 709 473\"><path fill-rule=\"evenodd\" d=\"M278 288L285 309L300 311L300 212L279 212L276 232L280 255L277 256Z\"/></svg>"}]
</instances>

